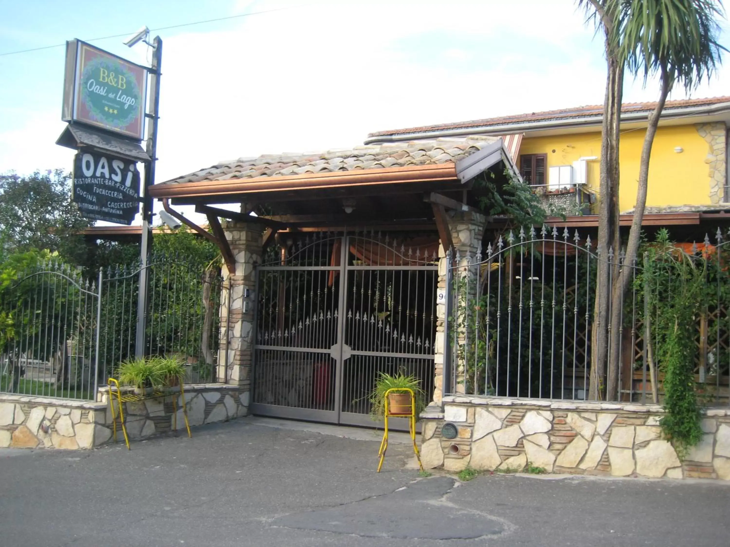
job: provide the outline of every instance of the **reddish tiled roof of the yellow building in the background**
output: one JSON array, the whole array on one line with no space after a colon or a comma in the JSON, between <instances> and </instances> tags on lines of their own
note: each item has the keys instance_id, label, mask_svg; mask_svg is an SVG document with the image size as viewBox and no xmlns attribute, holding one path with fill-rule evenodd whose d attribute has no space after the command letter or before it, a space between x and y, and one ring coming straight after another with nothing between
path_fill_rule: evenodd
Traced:
<instances>
[{"instance_id":1,"label":"reddish tiled roof of the yellow building in the background","mask_svg":"<svg viewBox=\"0 0 730 547\"><path fill-rule=\"evenodd\" d=\"M689 106L711 106L714 104L721 104L730 102L730 96L725 97L712 97L712 98L693 98L693 99L682 99L679 101L666 101L664 106L664 112L671 111L672 109L687 108ZM624 103L621 106L621 112L650 112L656 107L656 102L653 103ZM603 105L594 104L591 106L578 106L577 108L561 109L561 110L548 110L546 112L531 112L530 114L518 114L512 116L501 116L485 118L484 120L471 120L466 122L457 123L442 123L437 125L423 125L422 127L413 127L405 129L393 129L391 131L377 131L376 133L370 133L369 137L377 136L389 136L389 135L403 135L408 133L425 133L428 131L446 131L449 129L466 129L475 127L489 127L491 125L507 125L512 123L530 123L530 122L544 122L550 120L569 120L591 116L603 115Z\"/></svg>"}]
</instances>

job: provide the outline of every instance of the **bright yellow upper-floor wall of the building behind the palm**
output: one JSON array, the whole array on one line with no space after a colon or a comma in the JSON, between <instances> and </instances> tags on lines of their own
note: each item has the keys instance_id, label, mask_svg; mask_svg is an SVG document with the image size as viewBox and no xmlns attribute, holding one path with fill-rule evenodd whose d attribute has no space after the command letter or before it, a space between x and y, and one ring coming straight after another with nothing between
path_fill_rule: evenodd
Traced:
<instances>
[{"instance_id":1,"label":"bright yellow upper-floor wall of the building behind the palm","mask_svg":"<svg viewBox=\"0 0 730 547\"><path fill-rule=\"evenodd\" d=\"M621 211L636 203L639 160L645 129L621 133ZM682 147L681 153L675 147ZM649 163L647 206L710 205L710 172L705 159L708 143L694 125L658 128ZM571 165L579 158L601 157L601 133L573 133L558 136L525 135L521 154L547 154L548 168ZM600 162L588 162L588 187L600 195Z\"/></svg>"}]
</instances>

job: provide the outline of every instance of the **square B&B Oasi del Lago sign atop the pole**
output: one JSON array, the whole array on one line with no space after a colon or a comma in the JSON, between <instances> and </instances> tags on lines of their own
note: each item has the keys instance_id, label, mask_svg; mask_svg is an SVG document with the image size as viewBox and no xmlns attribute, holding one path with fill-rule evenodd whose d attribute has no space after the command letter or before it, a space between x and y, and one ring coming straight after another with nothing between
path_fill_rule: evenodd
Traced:
<instances>
[{"instance_id":1,"label":"square B&B Oasi del Lago sign atop the pole","mask_svg":"<svg viewBox=\"0 0 730 547\"><path fill-rule=\"evenodd\" d=\"M147 69L80 40L66 42L65 122L104 128L137 141L145 127Z\"/></svg>"}]
</instances>

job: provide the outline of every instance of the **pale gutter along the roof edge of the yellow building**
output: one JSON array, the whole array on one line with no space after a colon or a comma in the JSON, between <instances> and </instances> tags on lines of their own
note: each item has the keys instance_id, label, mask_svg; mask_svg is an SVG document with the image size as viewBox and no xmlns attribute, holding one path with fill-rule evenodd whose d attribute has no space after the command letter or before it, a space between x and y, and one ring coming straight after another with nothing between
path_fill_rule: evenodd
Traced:
<instances>
[{"instance_id":1,"label":"pale gutter along the roof edge of the yellow building","mask_svg":"<svg viewBox=\"0 0 730 547\"><path fill-rule=\"evenodd\" d=\"M621 115L621 123L648 121L650 110L626 112ZM721 112L730 112L730 102L712 106L689 106L686 108L671 109L661 115L661 121L673 120L691 115L712 115ZM434 137L467 136L479 134L526 133L528 131L579 128L601 125L603 115L592 115L580 118L566 118L564 120L544 120L537 122L503 123L500 125L472 125L453 129L434 129L433 131L419 131L418 133L392 133L391 135L373 136L365 139L364 144L384 144L387 142L417 141L419 139L434 139Z\"/></svg>"}]
</instances>

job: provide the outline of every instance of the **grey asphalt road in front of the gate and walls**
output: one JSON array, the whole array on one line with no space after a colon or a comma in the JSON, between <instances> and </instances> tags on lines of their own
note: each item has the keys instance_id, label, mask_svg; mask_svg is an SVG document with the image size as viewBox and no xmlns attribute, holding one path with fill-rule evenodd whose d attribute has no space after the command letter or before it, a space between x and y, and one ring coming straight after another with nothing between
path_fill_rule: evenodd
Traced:
<instances>
[{"instance_id":1,"label":"grey asphalt road in front of the gate and walls","mask_svg":"<svg viewBox=\"0 0 730 547\"><path fill-rule=\"evenodd\" d=\"M730 546L727 483L462 484L420 478L398 443L374 473L374 432L272 423L204 426L131 451L2 449L0 546Z\"/></svg>"}]
</instances>

